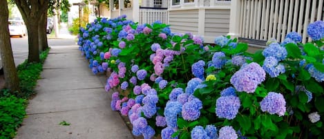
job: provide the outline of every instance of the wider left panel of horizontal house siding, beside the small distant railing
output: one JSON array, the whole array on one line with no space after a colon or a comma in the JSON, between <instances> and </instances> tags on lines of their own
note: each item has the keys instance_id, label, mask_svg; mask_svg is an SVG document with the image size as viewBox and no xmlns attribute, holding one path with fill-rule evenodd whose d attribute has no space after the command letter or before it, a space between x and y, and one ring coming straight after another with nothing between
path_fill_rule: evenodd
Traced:
<instances>
[{"instance_id":1,"label":"wider left panel of horizontal house siding, beside the small distant railing","mask_svg":"<svg viewBox=\"0 0 324 139\"><path fill-rule=\"evenodd\" d=\"M198 34L198 10L169 11L169 24L173 33Z\"/></svg>"}]
</instances>

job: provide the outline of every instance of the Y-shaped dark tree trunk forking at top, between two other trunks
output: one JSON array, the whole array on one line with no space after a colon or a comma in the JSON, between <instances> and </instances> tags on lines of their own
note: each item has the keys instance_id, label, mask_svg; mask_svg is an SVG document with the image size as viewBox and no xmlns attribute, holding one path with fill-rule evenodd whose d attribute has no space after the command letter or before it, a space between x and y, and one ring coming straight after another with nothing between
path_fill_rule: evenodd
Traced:
<instances>
[{"instance_id":1,"label":"Y-shaped dark tree trunk forking at top, between two other trunks","mask_svg":"<svg viewBox=\"0 0 324 139\"><path fill-rule=\"evenodd\" d=\"M48 10L48 0L14 0L28 30L28 62L39 62L39 19Z\"/></svg>"}]
</instances>

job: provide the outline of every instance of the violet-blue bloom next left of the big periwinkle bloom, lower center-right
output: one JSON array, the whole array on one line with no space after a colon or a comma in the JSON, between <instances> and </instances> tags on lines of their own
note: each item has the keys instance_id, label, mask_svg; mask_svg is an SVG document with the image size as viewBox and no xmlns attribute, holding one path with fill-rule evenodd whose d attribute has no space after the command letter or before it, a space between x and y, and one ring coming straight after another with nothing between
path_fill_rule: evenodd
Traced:
<instances>
[{"instance_id":1,"label":"violet-blue bloom next left of the big periwinkle bloom, lower center-right","mask_svg":"<svg viewBox=\"0 0 324 139\"><path fill-rule=\"evenodd\" d=\"M197 120L200 116L200 109L202 109L202 102L194 98L182 106L182 118L189 121Z\"/></svg>"}]
</instances>

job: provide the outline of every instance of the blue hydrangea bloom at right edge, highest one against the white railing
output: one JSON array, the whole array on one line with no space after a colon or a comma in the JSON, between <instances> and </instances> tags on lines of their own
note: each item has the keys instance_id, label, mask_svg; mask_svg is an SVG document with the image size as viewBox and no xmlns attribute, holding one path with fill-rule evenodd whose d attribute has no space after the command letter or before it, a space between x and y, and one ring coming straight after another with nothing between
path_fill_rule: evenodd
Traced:
<instances>
[{"instance_id":1,"label":"blue hydrangea bloom at right edge, highest one against the white railing","mask_svg":"<svg viewBox=\"0 0 324 139\"><path fill-rule=\"evenodd\" d=\"M324 37L324 21L315 21L307 27L307 33L314 41Z\"/></svg>"}]
</instances>

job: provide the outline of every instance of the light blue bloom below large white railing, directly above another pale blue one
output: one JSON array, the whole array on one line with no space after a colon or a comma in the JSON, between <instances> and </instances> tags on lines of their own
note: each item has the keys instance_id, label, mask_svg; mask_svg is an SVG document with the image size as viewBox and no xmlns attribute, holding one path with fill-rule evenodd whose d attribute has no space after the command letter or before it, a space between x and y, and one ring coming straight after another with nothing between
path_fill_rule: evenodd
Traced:
<instances>
[{"instance_id":1,"label":"light blue bloom below large white railing, directly above another pale blue one","mask_svg":"<svg viewBox=\"0 0 324 139\"><path fill-rule=\"evenodd\" d=\"M277 43L270 44L267 48L265 48L265 50L263 50L262 54L265 57L269 57L269 56L276 57L278 61L285 59L288 55L286 48L280 46Z\"/></svg>"}]
</instances>

